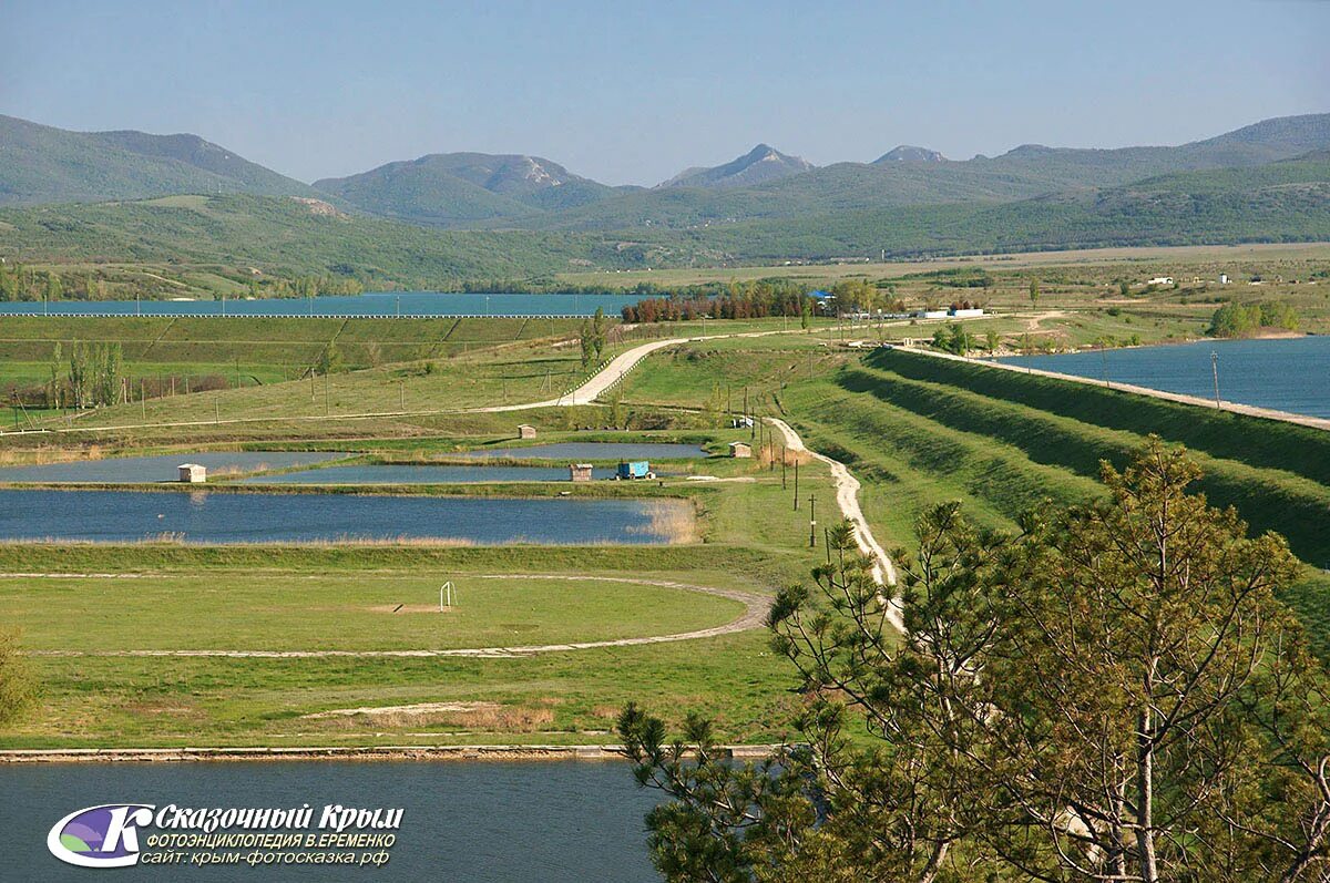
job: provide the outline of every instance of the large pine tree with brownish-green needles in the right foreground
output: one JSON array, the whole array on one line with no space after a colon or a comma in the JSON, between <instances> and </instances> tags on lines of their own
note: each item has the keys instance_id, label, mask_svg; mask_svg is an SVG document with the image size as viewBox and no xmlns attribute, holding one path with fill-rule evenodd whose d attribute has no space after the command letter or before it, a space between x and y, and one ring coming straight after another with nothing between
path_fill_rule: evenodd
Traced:
<instances>
[{"instance_id":1,"label":"large pine tree with brownish-green needles in the right foreground","mask_svg":"<svg viewBox=\"0 0 1330 883\"><path fill-rule=\"evenodd\" d=\"M670 880L1237 883L1330 875L1330 682L1277 600L1299 563L1152 440L1019 533L916 525L895 597L849 524L781 592L797 746L735 765L618 722ZM896 553L898 564L907 561ZM903 621L903 633L891 625ZM853 731L859 730L859 735ZM686 746L698 747L689 759Z\"/></svg>"}]
</instances>

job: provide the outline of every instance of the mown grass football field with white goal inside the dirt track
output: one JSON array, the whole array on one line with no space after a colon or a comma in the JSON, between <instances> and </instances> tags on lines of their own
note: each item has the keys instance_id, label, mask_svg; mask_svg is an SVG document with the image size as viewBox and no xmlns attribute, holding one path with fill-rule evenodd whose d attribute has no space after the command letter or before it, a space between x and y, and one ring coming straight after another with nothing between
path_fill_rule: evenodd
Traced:
<instances>
[{"instance_id":1,"label":"mown grass football field with white goal inside the dirt track","mask_svg":"<svg viewBox=\"0 0 1330 883\"><path fill-rule=\"evenodd\" d=\"M447 572L0 574L0 620L33 650L446 650L673 634L743 613L717 573L456 576ZM696 580L697 582L686 582ZM677 582L678 588L649 582ZM749 586L757 590L757 586Z\"/></svg>"}]
</instances>

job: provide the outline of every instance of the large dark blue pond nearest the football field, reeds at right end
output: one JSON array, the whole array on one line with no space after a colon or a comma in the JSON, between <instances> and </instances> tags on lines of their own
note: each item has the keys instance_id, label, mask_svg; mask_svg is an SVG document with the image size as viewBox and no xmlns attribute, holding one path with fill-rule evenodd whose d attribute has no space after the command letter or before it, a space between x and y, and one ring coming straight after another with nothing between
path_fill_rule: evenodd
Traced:
<instances>
[{"instance_id":1,"label":"large dark blue pond nearest the football field, reeds at right end","mask_svg":"<svg viewBox=\"0 0 1330 883\"><path fill-rule=\"evenodd\" d=\"M0 540L661 544L692 519L678 500L0 491Z\"/></svg>"}]
</instances>

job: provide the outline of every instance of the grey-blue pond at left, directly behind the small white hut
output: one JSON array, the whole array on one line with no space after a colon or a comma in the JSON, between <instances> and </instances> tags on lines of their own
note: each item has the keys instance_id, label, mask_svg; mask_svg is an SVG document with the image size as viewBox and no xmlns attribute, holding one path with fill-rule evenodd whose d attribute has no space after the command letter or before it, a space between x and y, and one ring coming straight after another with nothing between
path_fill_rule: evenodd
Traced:
<instances>
[{"instance_id":1,"label":"grey-blue pond at left, directly behind the small white hut","mask_svg":"<svg viewBox=\"0 0 1330 883\"><path fill-rule=\"evenodd\" d=\"M227 472L262 472L340 460L347 453L303 451L221 451L213 453L165 453L145 457L70 460L43 465L0 467L0 481L51 481L78 484L137 484L176 481L177 467L197 463L209 477Z\"/></svg>"}]
</instances>

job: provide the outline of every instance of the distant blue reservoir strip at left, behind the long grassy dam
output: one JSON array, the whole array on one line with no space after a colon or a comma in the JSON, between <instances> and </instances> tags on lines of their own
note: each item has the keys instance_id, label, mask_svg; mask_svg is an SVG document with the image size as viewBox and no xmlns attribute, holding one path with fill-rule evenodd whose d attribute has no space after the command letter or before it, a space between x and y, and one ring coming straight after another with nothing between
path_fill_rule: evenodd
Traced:
<instances>
[{"instance_id":1,"label":"distant blue reservoir strip at left, behind the long grassy dam","mask_svg":"<svg viewBox=\"0 0 1330 883\"><path fill-rule=\"evenodd\" d=\"M640 298L624 294L446 294L375 291L262 301L52 301L0 302L0 315L168 316L585 316L596 307L618 315Z\"/></svg>"}]
</instances>

